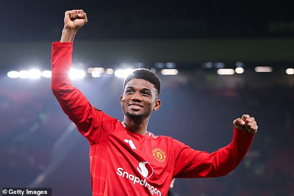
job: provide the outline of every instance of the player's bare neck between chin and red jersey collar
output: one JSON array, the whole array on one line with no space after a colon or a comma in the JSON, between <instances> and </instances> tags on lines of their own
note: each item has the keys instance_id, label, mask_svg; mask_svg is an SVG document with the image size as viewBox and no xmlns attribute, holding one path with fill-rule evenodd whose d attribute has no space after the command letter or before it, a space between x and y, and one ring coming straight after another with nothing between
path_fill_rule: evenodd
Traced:
<instances>
[{"instance_id":1,"label":"player's bare neck between chin and red jersey collar","mask_svg":"<svg viewBox=\"0 0 294 196\"><path fill-rule=\"evenodd\" d=\"M132 132L135 132L140 135L146 135L147 133L147 125L149 119L130 119L124 117L123 124L127 126Z\"/></svg>"}]
</instances>

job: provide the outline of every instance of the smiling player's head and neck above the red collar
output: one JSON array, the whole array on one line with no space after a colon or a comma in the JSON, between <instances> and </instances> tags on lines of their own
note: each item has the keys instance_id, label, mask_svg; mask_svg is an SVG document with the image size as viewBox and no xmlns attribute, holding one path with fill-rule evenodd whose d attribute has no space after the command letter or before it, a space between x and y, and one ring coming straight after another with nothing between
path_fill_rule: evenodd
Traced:
<instances>
[{"instance_id":1,"label":"smiling player's head and neck above the red collar","mask_svg":"<svg viewBox=\"0 0 294 196\"><path fill-rule=\"evenodd\" d=\"M157 111L161 104L160 80L148 69L137 69L125 79L123 89L120 96L123 123L133 132L145 135L151 112Z\"/></svg>"}]
</instances>

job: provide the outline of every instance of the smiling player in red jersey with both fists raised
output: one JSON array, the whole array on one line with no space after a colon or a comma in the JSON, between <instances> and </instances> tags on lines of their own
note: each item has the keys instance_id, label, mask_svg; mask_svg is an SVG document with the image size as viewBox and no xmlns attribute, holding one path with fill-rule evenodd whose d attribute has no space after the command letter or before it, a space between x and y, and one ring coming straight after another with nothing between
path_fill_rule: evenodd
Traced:
<instances>
[{"instance_id":1,"label":"smiling player in red jersey with both fists raised","mask_svg":"<svg viewBox=\"0 0 294 196\"><path fill-rule=\"evenodd\" d=\"M243 115L234 120L233 141L211 154L156 136L147 125L161 105L160 80L147 69L134 71L124 81L122 122L92 106L68 77L74 36L86 23L83 10L65 13L61 40L52 43L52 91L90 142L93 195L167 195L174 178L224 176L237 167L257 132L255 119Z\"/></svg>"}]
</instances>

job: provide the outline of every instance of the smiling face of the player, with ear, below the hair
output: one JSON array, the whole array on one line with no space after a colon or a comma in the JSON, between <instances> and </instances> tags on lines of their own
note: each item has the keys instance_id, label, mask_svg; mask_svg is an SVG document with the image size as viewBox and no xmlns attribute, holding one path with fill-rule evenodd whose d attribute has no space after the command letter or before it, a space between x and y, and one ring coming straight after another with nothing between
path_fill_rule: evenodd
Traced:
<instances>
[{"instance_id":1,"label":"smiling face of the player, with ear, below the hair","mask_svg":"<svg viewBox=\"0 0 294 196\"><path fill-rule=\"evenodd\" d=\"M125 84L120 103L123 114L130 118L149 118L160 107L154 84L137 78Z\"/></svg>"}]
</instances>

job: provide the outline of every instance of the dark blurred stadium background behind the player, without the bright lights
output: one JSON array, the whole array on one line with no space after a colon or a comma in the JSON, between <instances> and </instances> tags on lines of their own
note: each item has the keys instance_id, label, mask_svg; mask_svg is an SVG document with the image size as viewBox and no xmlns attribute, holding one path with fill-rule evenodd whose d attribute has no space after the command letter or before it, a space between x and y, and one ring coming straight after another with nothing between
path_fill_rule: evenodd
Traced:
<instances>
[{"instance_id":1,"label":"dark blurred stadium background behind the player, without the bright lights","mask_svg":"<svg viewBox=\"0 0 294 196\"><path fill-rule=\"evenodd\" d=\"M52 187L53 195L91 195L89 146L50 90L50 79L6 73L51 69L51 42L64 12L82 8L73 63L156 68L162 106L148 130L212 152L230 142L233 120L248 113L259 132L242 163L214 179L177 179L179 195L293 195L294 15L290 1L2 1L0 31L0 185ZM138 63L139 62L139 63ZM177 76L156 67L173 62ZM209 62L212 68L205 68ZM220 76L217 65L243 74ZM240 64L240 63L239 63ZM271 66L271 73L256 73ZM90 102L122 120L115 76L74 81Z\"/></svg>"}]
</instances>

